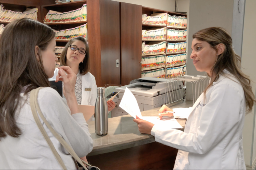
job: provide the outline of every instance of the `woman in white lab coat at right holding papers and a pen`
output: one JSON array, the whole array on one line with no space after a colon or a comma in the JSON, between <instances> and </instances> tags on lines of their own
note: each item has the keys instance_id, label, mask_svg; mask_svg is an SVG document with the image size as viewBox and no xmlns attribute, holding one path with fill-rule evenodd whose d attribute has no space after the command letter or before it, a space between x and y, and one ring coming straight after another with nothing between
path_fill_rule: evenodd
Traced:
<instances>
[{"instance_id":1,"label":"woman in white lab coat at right holding papers and a pen","mask_svg":"<svg viewBox=\"0 0 256 170\"><path fill-rule=\"evenodd\" d=\"M211 77L192 108L163 106L161 116L186 116L184 132L134 119L141 133L179 149L174 169L246 169L242 130L245 113L255 103L250 79L240 69L241 57L232 49L230 35L219 27L193 35L190 58L198 71ZM175 113L163 113L174 111Z\"/></svg>"}]
</instances>

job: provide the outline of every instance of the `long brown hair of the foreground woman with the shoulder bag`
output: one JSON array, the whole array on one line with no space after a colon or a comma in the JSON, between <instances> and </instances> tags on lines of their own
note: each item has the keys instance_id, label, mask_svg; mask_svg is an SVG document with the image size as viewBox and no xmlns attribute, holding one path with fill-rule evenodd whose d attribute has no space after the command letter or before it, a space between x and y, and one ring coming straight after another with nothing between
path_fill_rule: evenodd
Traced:
<instances>
[{"instance_id":1,"label":"long brown hair of the foreground woman with the shoulder bag","mask_svg":"<svg viewBox=\"0 0 256 170\"><path fill-rule=\"evenodd\" d=\"M6 134L18 137L22 131L15 113L20 108L20 92L25 95L38 87L49 87L41 51L55 38L54 31L38 21L23 18L9 23L0 38L0 139ZM35 46L39 46L38 62Z\"/></svg>"}]
</instances>

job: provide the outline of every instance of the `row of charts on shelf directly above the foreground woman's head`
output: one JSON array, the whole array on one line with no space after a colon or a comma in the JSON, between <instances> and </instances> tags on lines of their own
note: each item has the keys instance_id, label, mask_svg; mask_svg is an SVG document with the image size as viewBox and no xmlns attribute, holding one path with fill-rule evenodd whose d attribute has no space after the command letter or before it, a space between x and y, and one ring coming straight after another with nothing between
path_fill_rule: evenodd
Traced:
<instances>
[{"instance_id":1,"label":"row of charts on shelf directly above the foreground woman's head","mask_svg":"<svg viewBox=\"0 0 256 170\"><path fill-rule=\"evenodd\" d=\"M0 5L0 21L11 22L15 19L31 18L37 20L37 8L27 8L24 12L16 12L11 10L4 10L3 4Z\"/></svg>"}]
</instances>

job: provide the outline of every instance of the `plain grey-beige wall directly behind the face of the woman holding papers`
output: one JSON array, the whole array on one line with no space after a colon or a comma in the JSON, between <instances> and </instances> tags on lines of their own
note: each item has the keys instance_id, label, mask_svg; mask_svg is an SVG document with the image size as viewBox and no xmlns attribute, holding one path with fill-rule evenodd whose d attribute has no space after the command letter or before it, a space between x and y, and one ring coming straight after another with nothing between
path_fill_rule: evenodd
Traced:
<instances>
[{"instance_id":1,"label":"plain grey-beige wall directly behind the face of the woman holding papers","mask_svg":"<svg viewBox=\"0 0 256 170\"><path fill-rule=\"evenodd\" d=\"M180 0L178 0L179 2ZM232 31L233 0L191 0L189 3L189 29L188 29L188 75L207 75L198 72L190 59L192 36L197 31L208 27L223 27L230 34ZM187 99L192 99L191 87L187 85Z\"/></svg>"}]
</instances>

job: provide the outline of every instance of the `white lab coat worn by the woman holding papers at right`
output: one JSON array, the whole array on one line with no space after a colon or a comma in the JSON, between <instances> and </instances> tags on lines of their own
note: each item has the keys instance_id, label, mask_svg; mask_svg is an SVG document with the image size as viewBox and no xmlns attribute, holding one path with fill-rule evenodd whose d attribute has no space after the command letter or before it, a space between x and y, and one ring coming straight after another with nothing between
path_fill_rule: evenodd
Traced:
<instances>
[{"instance_id":1,"label":"white lab coat worn by the woman holding papers at right","mask_svg":"<svg viewBox=\"0 0 256 170\"><path fill-rule=\"evenodd\" d=\"M187 119L184 132L154 125L157 142L179 149L174 169L246 169L242 130L245 96L228 71L202 94ZM234 82L234 81L236 82Z\"/></svg>"}]
</instances>

